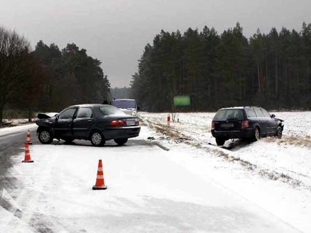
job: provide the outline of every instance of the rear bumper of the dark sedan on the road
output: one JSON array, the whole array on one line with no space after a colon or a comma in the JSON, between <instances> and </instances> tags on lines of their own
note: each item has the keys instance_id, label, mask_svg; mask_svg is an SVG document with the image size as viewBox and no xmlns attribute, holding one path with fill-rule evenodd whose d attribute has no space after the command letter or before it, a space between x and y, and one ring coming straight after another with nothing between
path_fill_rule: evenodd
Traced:
<instances>
[{"instance_id":1,"label":"rear bumper of the dark sedan on the road","mask_svg":"<svg viewBox=\"0 0 311 233\"><path fill-rule=\"evenodd\" d=\"M132 127L111 127L109 129L105 129L103 132L106 140L118 139L118 138L131 138L137 137L140 132L140 126L132 126Z\"/></svg>"}]
</instances>

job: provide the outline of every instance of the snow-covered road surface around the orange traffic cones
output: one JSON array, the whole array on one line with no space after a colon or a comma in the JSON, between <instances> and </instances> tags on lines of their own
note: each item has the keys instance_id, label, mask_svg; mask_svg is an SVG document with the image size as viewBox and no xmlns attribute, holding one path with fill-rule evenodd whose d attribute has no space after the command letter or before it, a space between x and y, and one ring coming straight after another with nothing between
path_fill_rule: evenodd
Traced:
<instances>
[{"instance_id":1,"label":"snow-covered road surface around the orange traffic cones","mask_svg":"<svg viewBox=\"0 0 311 233\"><path fill-rule=\"evenodd\" d=\"M143 126L121 147L33 145L32 164L13 156L6 176L15 189L1 189L0 232L301 232L203 172L210 163L187 157L202 151L162 150L151 135ZM108 189L93 191L99 159Z\"/></svg>"}]
</instances>

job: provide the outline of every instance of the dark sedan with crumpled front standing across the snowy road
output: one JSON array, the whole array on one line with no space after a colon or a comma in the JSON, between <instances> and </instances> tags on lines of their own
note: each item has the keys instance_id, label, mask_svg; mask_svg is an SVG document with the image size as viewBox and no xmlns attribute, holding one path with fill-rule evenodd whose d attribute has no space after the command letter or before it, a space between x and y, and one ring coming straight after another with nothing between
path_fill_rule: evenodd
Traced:
<instances>
[{"instance_id":1,"label":"dark sedan with crumpled front standing across the snowy road","mask_svg":"<svg viewBox=\"0 0 311 233\"><path fill-rule=\"evenodd\" d=\"M140 132L137 116L129 116L118 108L105 104L69 106L56 116L38 115L35 123L38 139L49 144L53 138L71 142L74 139L90 140L93 146L103 146L106 140L123 145L128 138ZM41 119L40 119L41 118Z\"/></svg>"}]
</instances>

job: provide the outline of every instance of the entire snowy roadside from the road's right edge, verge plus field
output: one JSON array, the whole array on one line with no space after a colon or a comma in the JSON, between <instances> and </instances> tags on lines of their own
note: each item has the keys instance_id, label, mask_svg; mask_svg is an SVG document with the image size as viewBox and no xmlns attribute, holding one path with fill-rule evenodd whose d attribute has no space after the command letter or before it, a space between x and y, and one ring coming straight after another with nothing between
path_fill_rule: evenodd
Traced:
<instances>
[{"instance_id":1,"label":"entire snowy roadside from the road's right edge, verge plus field","mask_svg":"<svg viewBox=\"0 0 311 233\"><path fill-rule=\"evenodd\" d=\"M226 141L224 147L217 147L210 133L215 113L179 113L179 123L171 122L169 128L168 113L140 117L157 132L150 139L175 150L178 156L173 158L181 164L311 232L311 112L274 114L285 120L281 140Z\"/></svg>"}]
</instances>

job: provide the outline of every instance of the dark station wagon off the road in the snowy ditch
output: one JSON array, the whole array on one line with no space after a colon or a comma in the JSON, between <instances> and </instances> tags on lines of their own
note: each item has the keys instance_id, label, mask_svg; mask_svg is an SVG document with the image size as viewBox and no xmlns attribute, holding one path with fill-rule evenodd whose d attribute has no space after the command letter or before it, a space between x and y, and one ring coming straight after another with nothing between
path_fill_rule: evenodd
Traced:
<instances>
[{"instance_id":1,"label":"dark station wagon off the road in the snowy ditch","mask_svg":"<svg viewBox=\"0 0 311 233\"><path fill-rule=\"evenodd\" d=\"M275 135L282 137L283 120L259 107L234 107L218 110L212 120L211 133L219 146L233 138L252 138Z\"/></svg>"}]
</instances>

